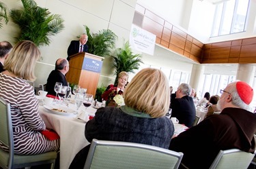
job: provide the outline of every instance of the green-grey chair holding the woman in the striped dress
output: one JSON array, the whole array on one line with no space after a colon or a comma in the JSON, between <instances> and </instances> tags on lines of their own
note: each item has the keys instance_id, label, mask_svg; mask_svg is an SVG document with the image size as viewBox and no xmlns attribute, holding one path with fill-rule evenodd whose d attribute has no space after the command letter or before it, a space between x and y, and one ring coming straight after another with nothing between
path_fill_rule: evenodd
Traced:
<instances>
[{"instance_id":1,"label":"green-grey chair holding the woman in the striped dress","mask_svg":"<svg viewBox=\"0 0 256 169\"><path fill-rule=\"evenodd\" d=\"M29 166L38 166L41 164L51 164L53 169L57 152L51 151L38 155L16 155L14 154L14 140L12 134L12 117L10 103L5 102L0 97L0 142L9 148L9 151L3 151L0 148L0 166L1 168L25 168Z\"/></svg>"}]
</instances>

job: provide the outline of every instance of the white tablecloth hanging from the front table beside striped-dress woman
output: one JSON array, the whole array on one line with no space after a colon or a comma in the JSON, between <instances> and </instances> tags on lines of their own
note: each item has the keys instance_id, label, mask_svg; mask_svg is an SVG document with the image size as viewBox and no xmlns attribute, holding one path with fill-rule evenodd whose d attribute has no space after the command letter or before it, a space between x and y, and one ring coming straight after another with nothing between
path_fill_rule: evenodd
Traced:
<instances>
[{"instance_id":1,"label":"white tablecloth hanging from the front table beside striped-dress woman","mask_svg":"<svg viewBox=\"0 0 256 169\"><path fill-rule=\"evenodd\" d=\"M72 107L73 106L73 107ZM74 105L71 105L72 109ZM81 105L80 109L85 109ZM94 114L96 109L87 108L89 114ZM60 136L60 159L59 168L66 169L83 147L89 145L85 138L85 121L76 119L76 115L57 115L48 112L44 107L39 107L39 113L47 128L52 128Z\"/></svg>"}]
</instances>

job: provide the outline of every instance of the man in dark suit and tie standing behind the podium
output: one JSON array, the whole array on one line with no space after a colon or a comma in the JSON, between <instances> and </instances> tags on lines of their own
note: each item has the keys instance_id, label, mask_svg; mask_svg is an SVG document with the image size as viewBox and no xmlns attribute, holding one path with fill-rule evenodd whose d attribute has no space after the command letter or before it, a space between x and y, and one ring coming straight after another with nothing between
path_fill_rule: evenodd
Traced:
<instances>
[{"instance_id":1,"label":"man in dark suit and tie standing behind the podium","mask_svg":"<svg viewBox=\"0 0 256 169\"><path fill-rule=\"evenodd\" d=\"M68 46L68 58L70 60L70 56L73 54L77 54L79 52L88 52L88 46L86 42L88 40L88 36L83 34L80 36L79 41L71 41L70 45Z\"/></svg>"}]
</instances>

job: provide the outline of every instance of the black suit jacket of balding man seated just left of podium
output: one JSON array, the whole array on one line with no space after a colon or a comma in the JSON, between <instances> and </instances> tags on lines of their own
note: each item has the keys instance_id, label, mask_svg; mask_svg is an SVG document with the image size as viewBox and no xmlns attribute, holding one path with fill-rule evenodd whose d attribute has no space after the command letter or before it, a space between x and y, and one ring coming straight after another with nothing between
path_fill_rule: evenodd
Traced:
<instances>
[{"instance_id":1,"label":"black suit jacket of balding man seated just left of podium","mask_svg":"<svg viewBox=\"0 0 256 169\"><path fill-rule=\"evenodd\" d=\"M51 71L46 83L46 91L48 92L48 94L52 94L55 96L56 93L54 91L54 86L56 82L61 82L62 86L68 86L65 75L57 70Z\"/></svg>"}]
</instances>

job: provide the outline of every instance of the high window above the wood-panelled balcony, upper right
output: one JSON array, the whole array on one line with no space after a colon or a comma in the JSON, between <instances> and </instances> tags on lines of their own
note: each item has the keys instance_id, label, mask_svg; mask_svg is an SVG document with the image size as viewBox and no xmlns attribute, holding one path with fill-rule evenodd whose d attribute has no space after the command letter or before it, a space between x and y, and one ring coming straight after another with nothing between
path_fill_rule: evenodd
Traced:
<instances>
[{"instance_id":1,"label":"high window above the wood-panelled balcony, upper right","mask_svg":"<svg viewBox=\"0 0 256 169\"><path fill-rule=\"evenodd\" d=\"M211 37L246 31L250 0L229 0L216 5Z\"/></svg>"}]
</instances>

